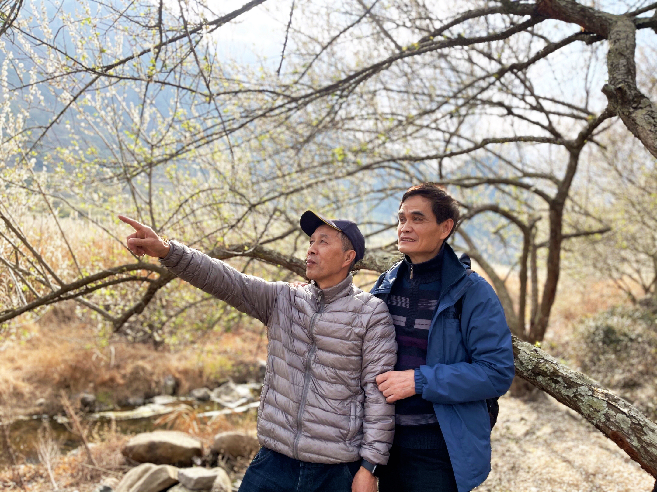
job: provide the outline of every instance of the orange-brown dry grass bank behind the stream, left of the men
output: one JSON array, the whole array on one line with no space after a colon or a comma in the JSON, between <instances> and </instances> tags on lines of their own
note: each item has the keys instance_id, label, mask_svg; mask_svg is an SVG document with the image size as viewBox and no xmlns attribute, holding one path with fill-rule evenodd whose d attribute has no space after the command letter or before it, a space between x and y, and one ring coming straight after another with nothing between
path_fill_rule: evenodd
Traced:
<instances>
[{"instance_id":1,"label":"orange-brown dry grass bank behind the stream, left of the men","mask_svg":"<svg viewBox=\"0 0 657 492\"><path fill-rule=\"evenodd\" d=\"M5 346L0 357L0 415L57 413L60 390L71 396L91 392L107 405L149 398L160 394L168 375L184 395L228 377L246 377L257 359L266 356L266 342L250 329L208 333L196 346L170 351L120 338L107 344L61 312L26 328L28 339ZM38 398L46 403L35 409Z\"/></svg>"}]
</instances>

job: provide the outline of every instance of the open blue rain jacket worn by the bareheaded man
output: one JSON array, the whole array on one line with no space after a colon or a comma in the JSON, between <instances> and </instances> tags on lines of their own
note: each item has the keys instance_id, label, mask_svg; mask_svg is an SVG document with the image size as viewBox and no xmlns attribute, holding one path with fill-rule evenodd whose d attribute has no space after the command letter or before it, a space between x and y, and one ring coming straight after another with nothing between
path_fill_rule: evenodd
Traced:
<instances>
[{"instance_id":1,"label":"open blue rain jacket worn by the bareheaded man","mask_svg":"<svg viewBox=\"0 0 657 492\"><path fill-rule=\"evenodd\" d=\"M431 321L426 365L415 371L422 398L434 411L447 443L459 492L480 485L491 469L487 398L502 396L514 376L511 333L493 287L445 244L442 292ZM384 272L371 293L386 301L401 262ZM455 303L463 297L461 319Z\"/></svg>"}]
</instances>

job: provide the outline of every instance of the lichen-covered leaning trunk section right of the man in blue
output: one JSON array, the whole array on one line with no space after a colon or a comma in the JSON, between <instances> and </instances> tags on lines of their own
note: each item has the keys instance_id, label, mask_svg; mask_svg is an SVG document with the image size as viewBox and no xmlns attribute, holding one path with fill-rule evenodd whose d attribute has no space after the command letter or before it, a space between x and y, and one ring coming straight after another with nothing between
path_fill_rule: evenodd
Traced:
<instances>
[{"instance_id":1,"label":"lichen-covered leaning trunk section right of the man in blue","mask_svg":"<svg viewBox=\"0 0 657 492\"><path fill-rule=\"evenodd\" d=\"M593 379L520 338L513 337L513 354L516 375L582 415L657 478L657 424Z\"/></svg>"}]
</instances>

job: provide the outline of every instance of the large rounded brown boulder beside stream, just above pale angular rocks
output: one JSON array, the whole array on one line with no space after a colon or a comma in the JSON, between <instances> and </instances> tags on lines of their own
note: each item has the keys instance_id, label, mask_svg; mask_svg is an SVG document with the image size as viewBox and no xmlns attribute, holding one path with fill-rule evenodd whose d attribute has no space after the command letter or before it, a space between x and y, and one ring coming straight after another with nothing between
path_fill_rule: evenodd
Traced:
<instances>
[{"instance_id":1,"label":"large rounded brown boulder beside stream, just above pale angular rocks","mask_svg":"<svg viewBox=\"0 0 657 492\"><path fill-rule=\"evenodd\" d=\"M203 455L203 446L184 432L156 430L137 434L127 441L121 452L140 463L192 466L193 458Z\"/></svg>"}]
</instances>

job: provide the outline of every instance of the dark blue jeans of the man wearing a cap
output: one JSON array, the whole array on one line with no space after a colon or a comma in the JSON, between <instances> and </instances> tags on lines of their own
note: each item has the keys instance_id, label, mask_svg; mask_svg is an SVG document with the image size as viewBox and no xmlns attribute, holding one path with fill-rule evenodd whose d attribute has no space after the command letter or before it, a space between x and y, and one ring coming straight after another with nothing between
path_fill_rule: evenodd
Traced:
<instances>
[{"instance_id":1,"label":"dark blue jeans of the man wearing a cap","mask_svg":"<svg viewBox=\"0 0 657 492\"><path fill-rule=\"evenodd\" d=\"M310 463L261 447L246 468L239 492L351 492L353 463Z\"/></svg>"}]
</instances>

